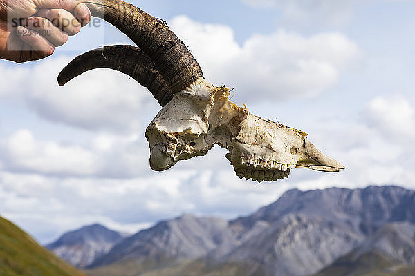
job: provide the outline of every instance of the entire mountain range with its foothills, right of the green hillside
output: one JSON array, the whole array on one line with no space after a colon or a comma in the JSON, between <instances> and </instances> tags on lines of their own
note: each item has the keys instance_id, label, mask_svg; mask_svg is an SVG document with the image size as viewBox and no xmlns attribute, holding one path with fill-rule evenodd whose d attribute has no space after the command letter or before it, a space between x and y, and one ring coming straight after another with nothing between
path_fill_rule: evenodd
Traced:
<instances>
[{"instance_id":1,"label":"entire mountain range with its foothills, right of the green hillside","mask_svg":"<svg viewBox=\"0 0 415 276\"><path fill-rule=\"evenodd\" d=\"M78 248L101 238L83 237L77 246L61 238L48 248L91 276L393 275L415 267L415 191L289 190L246 217L183 215L118 241L93 242L107 247L95 246L91 255Z\"/></svg>"}]
</instances>

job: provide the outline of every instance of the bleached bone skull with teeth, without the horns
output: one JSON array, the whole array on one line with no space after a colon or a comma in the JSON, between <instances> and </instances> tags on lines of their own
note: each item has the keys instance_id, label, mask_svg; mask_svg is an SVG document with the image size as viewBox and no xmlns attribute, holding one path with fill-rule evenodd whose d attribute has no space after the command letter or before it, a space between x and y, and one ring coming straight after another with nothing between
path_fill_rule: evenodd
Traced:
<instances>
[{"instance_id":1,"label":"bleached bone skull with teeth, without the horns","mask_svg":"<svg viewBox=\"0 0 415 276\"><path fill-rule=\"evenodd\" d=\"M232 103L228 88L199 79L178 92L146 130L150 166L163 171L180 160L203 156L215 144L240 178L276 181L292 168L337 172L343 166L306 140L306 133L250 114Z\"/></svg>"}]
</instances>

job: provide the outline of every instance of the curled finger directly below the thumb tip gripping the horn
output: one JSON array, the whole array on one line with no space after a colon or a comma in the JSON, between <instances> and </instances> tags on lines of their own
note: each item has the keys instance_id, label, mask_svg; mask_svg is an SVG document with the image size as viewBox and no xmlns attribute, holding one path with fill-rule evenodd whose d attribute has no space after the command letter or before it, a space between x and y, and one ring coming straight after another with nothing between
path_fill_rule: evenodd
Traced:
<instances>
[{"instance_id":1,"label":"curled finger directly below the thumb tip gripping the horn","mask_svg":"<svg viewBox=\"0 0 415 276\"><path fill-rule=\"evenodd\" d=\"M67 10L42 8L36 16L48 19L68 35L75 35L81 30L80 22Z\"/></svg>"}]
</instances>

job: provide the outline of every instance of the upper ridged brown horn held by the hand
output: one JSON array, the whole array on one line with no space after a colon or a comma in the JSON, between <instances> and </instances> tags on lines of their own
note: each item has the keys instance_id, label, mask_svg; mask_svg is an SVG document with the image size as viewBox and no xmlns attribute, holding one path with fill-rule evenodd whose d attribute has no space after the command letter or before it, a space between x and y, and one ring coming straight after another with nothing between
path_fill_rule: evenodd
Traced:
<instances>
[{"instance_id":1,"label":"upper ridged brown horn held by the hand","mask_svg":"<svg viewBox=\"0 0 415 276\"><path fill-rule=\"evenodd\" d=\"M173 93L203 77L199 63L165 21L120 0L89 0L85 3L93 16L127 34L154 61Z\"/></svg>"}]
</instances>

